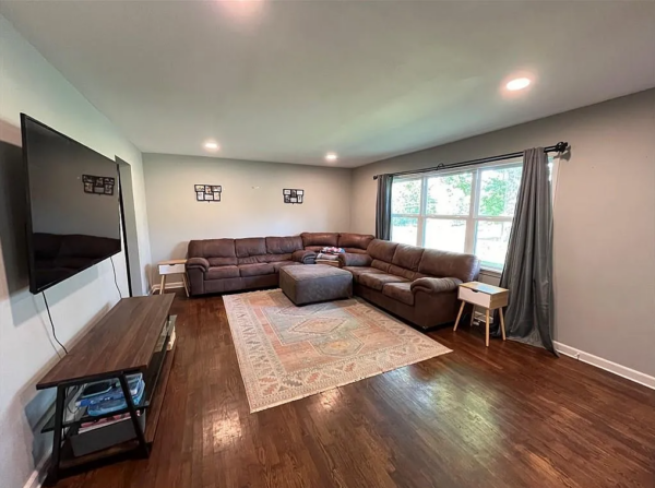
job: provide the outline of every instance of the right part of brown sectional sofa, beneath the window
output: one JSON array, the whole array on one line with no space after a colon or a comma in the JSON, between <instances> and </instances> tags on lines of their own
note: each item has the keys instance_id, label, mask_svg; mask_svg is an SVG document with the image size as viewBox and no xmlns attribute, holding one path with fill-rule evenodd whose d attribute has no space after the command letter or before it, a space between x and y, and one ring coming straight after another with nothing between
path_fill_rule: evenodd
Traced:
<instances>
[{"instance_id":1,"label":"right part of brown sectional sofa, beneath the window","mask_svg":"<svg viewBox=\"0 0 655 488\"><path fill-rule=\"evenodd\" d=\"M342 254L354 293L424 329L453 322L457 286L477 278L472 254L424 249L376 239L367 254Z\"/></svg>"}]
</instances>

